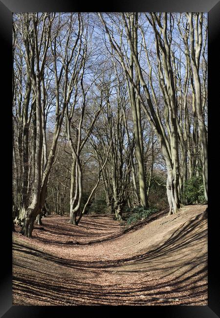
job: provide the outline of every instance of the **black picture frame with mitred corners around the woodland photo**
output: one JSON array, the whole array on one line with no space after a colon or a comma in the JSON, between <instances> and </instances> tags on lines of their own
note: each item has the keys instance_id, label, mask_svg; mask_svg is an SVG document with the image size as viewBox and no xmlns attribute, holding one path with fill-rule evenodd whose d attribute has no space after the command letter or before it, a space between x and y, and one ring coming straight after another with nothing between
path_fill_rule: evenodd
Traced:
<instances>
[{"instance_id":1,"label":"black picture frame with mitred corners around the woodland photo","mask_svg":"<svg viewBox=\"0 0 220 318\"><path fill-rule=\"evenodd\" d=\"M213 171L219 166L219 157L216 156L215 140L219 118L217 109L219 105L219 51L216 49L220 43L220 1L218 0L115 0L105 3L105 6L98 4L98 1L90 3L71 2L65 0L0 0L0 36L1 36L1 58L2 85L1 96L6 96L5 102L1 99L1 112L4 117L1 121L5 122L5 128L2 128L3 140L3 168L6 177L3 178L4 187L1 192L5 208L2 208L4 220L2 221L3 237L1 239L2 247L6 247L3 258L1 258L1 273L3 277L0 283L0 317L4 318L35 318L47 317L72 317L74 314L89 316L97 315L102 309L107 309L108 314L112 315L118 311L118 306L12 306L12 235L11 229L11 192L12 188L12 116L11 116L11 74L12 74L12 13L13 12L208 12L208 105L209 105L209 217L208 217L208 306L119 306L123 307L123 314L143 315L153 314L159 317L168 318L216 318L220 317L220 289L219 263L217 256L219 254L219 211L215 206L215 200L218 199L218 189L212 182ZM1 69L2 69L1 68ZM214 76L217 78L214 80ZM2 114L2 113L0 113ZM10 124L9 124L10 123ZM3 123L2 123L3 124ZM2 127L2 126L1 126ZM216 130L216 131L215 131ZM5 150L7 149L7 150ZM219 170L219 169L217 169ZM216 171L215 173L216 174ZM220 180L218 178L218 180ZM217 192L218 191L218 192ZM7 209L7 213L5 212ZM4 212L4 213L3 213ZM108 307L108 308L105 308ZM144 310L141 314L139 311ZM53 313L52 313L53 312Z\"/></svg>"}]
</instances>

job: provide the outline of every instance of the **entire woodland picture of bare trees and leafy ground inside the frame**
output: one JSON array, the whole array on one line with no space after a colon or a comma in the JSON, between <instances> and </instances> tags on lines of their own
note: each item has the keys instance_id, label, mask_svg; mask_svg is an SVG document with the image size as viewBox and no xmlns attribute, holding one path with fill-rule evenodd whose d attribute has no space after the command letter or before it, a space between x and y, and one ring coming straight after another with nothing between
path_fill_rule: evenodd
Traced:
<instances>
[{"instance_id":1,"label":"entire woodland picture of bare trees and leafy ground inside the frame","mask_svg":"<svg viewBox=\"0 0 220 318\"><path fill-rule=\"evenodd\" d=\"M207 20L13 14L13 305L207 305Z\"/></svg>"}]
</instances>

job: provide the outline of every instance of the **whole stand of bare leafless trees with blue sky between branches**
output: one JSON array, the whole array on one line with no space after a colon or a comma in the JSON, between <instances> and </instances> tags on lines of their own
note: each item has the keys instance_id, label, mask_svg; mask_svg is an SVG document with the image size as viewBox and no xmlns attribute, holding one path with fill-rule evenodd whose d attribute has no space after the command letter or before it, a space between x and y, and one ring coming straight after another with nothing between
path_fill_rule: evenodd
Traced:
<instances>
[{"instance_id":1,"label":"whole stand of bare leafless trees with blue sky between branches","mask_svg":"<svg viewBox=\"0 0 220 318\"><path fill-rule=\"evenodd\" d=\"M148 208L166 173L170 213L199 166L207 188L206 42L203 13L14 14L13 184L25 235L47 189L77 225L103 193L118 220L127 205Z\"/></svg>"}]
</instances>

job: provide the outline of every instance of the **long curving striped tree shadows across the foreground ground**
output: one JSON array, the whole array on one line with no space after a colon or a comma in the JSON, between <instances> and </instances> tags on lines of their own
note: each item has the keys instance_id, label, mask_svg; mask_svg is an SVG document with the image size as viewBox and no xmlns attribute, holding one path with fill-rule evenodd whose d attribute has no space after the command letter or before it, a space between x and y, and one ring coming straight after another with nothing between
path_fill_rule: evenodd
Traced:
<instances>
[{"instance_id":1,"label":"long curving striped tree shadows across the foreground ground","mask_svg":"<svg viewBox=\"0 0 220 318\"><path fill-rule=\"evenodd\" d=\"M14 243L13 304L207 305L204 222L185 222L159 247L119 260L71 260ZM110 282L100 283L106 274Z\"/></svg>"}]
</instances>

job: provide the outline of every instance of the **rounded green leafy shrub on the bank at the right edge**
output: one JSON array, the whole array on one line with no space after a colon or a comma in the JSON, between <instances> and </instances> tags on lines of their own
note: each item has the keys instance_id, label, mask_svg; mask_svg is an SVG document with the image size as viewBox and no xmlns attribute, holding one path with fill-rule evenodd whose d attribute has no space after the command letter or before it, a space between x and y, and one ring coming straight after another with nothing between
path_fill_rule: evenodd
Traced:
<instances>
[{"instance_id":1,"label":"rounded green leafy shrub on the bank at the right edge","mask_svg":"<svg viewBox=\"0 0 220 318\"><path fill-rule=\"evenodd\" d=\"M205 201L202 176L192 177L185 182L184 196L188 204L203 203Z\"/></svg>"}]
</instances>

